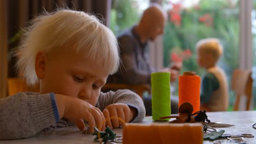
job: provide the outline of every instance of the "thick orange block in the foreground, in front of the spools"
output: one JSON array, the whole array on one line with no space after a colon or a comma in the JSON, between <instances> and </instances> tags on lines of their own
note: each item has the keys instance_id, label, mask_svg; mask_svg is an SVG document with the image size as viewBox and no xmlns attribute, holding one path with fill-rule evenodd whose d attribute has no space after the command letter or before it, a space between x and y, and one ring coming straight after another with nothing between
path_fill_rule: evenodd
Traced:
<instances>
[{"instance_id":1,"label":"thick orange block in the foreground, in front of the spools","mask_svg":"<svg viewBox=\"0 0 256 144\"><path fill-rule=\"evenodd\" d=\"M203 143L202 123L126 123L123 144Z\"/></svg>"}]
</instances>

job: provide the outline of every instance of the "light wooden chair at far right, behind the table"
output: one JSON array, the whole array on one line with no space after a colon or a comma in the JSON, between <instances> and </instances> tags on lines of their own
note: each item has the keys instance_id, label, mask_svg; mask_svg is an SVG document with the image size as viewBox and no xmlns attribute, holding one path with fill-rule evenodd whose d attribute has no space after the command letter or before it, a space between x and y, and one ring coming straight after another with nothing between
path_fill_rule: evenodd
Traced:
<instances>
[{"instance_id":1,"label":"light wooden chair at far right, behind the table","mask_svg":"<svg viewBox=\"0 0 256 144\"><path fill-rule=\"evenodd\" d=\"M236 94L236 100L234 104L234 111L238 110L240 104L240 99L244 95L246 100L246 110L249 110L251 100L252 100L252 71L251 70L242 70L235 69L232 74L231 79L231 89Z\"/></svg>"}]
</instances>

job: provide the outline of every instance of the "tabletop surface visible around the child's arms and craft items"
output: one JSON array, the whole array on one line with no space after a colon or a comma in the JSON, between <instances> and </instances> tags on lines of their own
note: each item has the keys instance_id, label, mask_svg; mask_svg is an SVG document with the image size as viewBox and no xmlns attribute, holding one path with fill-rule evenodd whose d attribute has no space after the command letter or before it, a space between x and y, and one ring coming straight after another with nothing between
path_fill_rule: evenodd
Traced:
<instances>
[{"instance_id":1,"label":"tabletop surface visible around the child's arms and craft items","mask_svg":"<svg viewBox=\"0 0 256 144\"><path fill-rule=\"evenodd\" d=\"M256 129L252 128L252 125L256 123L256 111L233 111L233 112L207 112L208 119L212 122L225 122L234 124L234 127L228 128L217 128L224 129L225 133L231 134L241 134L249 133L256 136ZM146 117L143 123L152 123L152 117ZM172 119L171 119L172 120ZM117 135L122 134L122 129L114 129ZM0 141L2 144L13 143L13 144L23 144L23 143L55 143L55 144L65 144L65 143L98 143L95 142L95 136L84 135L76 127L66 127L60 128L53 131L42 132L36 136L30 137L28 139L22 140L9 140ZM245 138L247 143L256 143L256 137ZM213 143L212 141L203 141L203 144Z\"/></svg>"}]
</instances>

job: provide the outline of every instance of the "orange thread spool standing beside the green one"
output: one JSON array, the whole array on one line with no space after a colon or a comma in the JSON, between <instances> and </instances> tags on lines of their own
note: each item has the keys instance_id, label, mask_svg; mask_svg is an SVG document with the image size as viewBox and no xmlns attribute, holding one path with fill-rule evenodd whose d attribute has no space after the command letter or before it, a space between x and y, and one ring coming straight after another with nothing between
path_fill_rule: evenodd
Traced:
<instances>
[{"instance_id":1,"label":"orange thread spool standing beside the green one","mask_svg":"<svg viewBox=\"0 0 256 144\"><path fill-rule=\"evenodd\" d=\"M193 105L193 113L200 110L200 76L194 71L185 71L179 76L179 106L189 102Z\"/></svg>"}]
</instances>

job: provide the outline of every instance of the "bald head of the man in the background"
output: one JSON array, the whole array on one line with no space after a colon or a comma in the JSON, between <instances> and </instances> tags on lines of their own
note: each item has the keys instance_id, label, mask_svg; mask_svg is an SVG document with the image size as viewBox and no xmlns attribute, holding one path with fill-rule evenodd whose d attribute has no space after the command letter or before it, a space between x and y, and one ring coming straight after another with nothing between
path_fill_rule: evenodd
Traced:
<instances>
[{"instance_id":1,"label":"bald head of the man in the background","mask_svg":"<svg viewBox=\"0 0 256 144\"><path fill-rule=\"evenodd\" d=\"M159 4L152 4L142 14L138 23L140 36L146 40L154 40L158 35L164 32L165 21L167 19L166 12Z\"/></svg>"}]
</instances>

